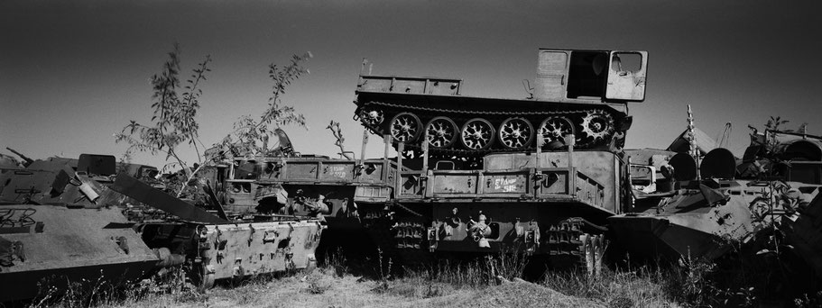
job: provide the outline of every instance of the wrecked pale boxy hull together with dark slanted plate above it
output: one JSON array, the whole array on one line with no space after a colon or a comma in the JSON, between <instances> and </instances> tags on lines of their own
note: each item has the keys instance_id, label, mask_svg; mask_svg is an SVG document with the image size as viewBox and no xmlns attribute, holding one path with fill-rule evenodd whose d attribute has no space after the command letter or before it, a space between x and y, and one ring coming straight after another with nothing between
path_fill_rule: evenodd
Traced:
<instances>
[{"instance_id":1,"label":"wrecked pale boxy hull together with dark slanted plate above it","mask_svg":"<svg viewBox=\"0 0 822 308\"><path fill-rule=\"evenodd\" d=\"M311 268L324 226L294 215L230 219L188 204L125 174L111 189L173 215L163 221L134 224L145 244L156 251L157 267L183 266L195 285L221 279ZM213 192L211 198L216 198ZM218 207L219 208L219 207Z\"/></svg>"}]
</instances>

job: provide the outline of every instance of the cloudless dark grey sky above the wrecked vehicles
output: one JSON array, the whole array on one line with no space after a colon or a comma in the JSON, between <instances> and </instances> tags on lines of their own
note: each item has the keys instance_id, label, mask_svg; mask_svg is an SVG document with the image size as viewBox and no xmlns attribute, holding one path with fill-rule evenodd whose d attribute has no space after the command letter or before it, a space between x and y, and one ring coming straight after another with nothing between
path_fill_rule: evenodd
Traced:
<instances>
[{"instance_id":1,"label":"cloudless dark grey sky above the wrecked vehicles","mask_svg":"<svg viewBox=\"0 0 822 308\"><path fill-rule=\"evenodd\" d=\"M38 159L112 154L113 134L151 118L150 77L174 42L189 72L206 55L200 139L212 144L263 112L268 64L311 51L310 74L285 104L309 130L286 127L302 153L336 156L329 121L357 154L352 119L363 59L373 73L464 80L462 93L523 98L537 50L647 50L646 96L630 104L627 148L664 149L687 126L687 105L711 137L732 123L741 154L748 124L779 115L822 135L822 3L799 1L0 1L0 153ZM378 138L368 156L382 155ZM194 161L190 149L184 158ZM162 157L134 156L162 166Z\"/></svg>"}]
</instances>

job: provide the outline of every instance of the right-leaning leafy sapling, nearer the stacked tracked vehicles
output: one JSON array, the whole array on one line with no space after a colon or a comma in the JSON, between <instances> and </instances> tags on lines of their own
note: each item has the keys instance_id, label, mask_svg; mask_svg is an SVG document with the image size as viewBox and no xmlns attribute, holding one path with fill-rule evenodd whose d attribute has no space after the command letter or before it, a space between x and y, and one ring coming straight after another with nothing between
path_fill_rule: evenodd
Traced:
<instances>
[{"instance_id":1,"label":"right-leaning leafy sapling, nearer the stacked tracked vehicles","mask_svg":"<svg viewBox=\"0 0 822 308\"><path fill-rule=\"evenodd\" d=\"M270 64L268 76L272 78L274 85L272 95L268 99L268 107L259 119L251 114L240 117L234 124L235 131L228 134L217 146L227 149L233 156L290 155L291 149L270 149L269 141L284 134L283 125L297 124L308 129L305 116L297 113L294 107L282 104L282 95L285 95L286 86L291 85L303 74L310 73L302 64L311 57L311 53L306 52L301 56L293 55L291 63L284 67Z\"/></svg>"}]
</instances>

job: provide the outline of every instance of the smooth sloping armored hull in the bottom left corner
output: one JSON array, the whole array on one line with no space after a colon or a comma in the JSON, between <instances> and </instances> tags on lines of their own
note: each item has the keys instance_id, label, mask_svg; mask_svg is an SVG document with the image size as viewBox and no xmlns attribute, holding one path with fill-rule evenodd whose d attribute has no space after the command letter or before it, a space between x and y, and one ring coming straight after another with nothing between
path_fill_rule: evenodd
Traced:
<instances>
[{"instance_id":1,"label":"smooth sloping armored hull in the bottom left corner","mask_svg":"<svg viewBox=\"0 0 822 308\"><path fill-rule=\"evenodd\" d=\"M0 226L0 302L32 298L39 283L133 281L158 261L116 208L0 205L0 216L14 222Z\"/></svg>"}]
</instances>

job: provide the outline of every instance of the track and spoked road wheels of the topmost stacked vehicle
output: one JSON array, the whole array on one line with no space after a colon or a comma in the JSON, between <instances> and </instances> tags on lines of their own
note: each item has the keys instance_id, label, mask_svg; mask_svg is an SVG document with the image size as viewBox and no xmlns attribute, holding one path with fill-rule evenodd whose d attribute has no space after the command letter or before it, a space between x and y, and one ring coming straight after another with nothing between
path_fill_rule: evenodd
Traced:
<instances>
[{"instance_id":1,"label":"track and spoked road wheels of the topmost stacked vehicle","mask_svg":"<svg viewBox=\"0 0 822 308\"><path fill-rule=\"evenodd\" d=\"M540 137L543 148L557 149L568 133L577 136L577 149L605 147L613 138L623 138L615 129L619 116L599 108L499 112L368 102L358 105L354 118L374 134L391 134L395 147L402 141L405 149L419 151L428 131L432 153L471 157L534 150Z\"/></svg>"}]
</instances>

